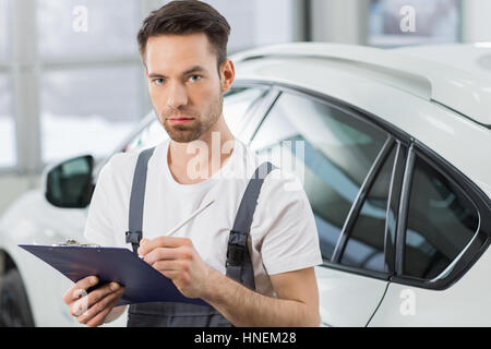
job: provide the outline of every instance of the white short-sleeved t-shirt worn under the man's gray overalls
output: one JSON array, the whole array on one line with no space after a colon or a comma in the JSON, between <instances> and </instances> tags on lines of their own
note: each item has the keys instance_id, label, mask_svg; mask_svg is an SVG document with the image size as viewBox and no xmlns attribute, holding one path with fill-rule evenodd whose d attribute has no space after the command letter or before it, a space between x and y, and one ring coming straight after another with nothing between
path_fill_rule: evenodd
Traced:
<instances>
[{"instance_id":1,"label":"white short-sleeved t-shirt worn under the man's gray overalls","mask_svg":"<svg viewBox=\"0 0 491 349\"><path fill-rule=\"evenodd\" d=\"M229 231L246 186L261 163L236 137L231 156L213 177L196 184L181 184L170 173L168 146L169 139L157 145L148 160L143 237L166 234L215 200L172 236L190 238L203 261L225 275ZM88 241L131 249L124 232L129 230L130 193L139 154L118 153L100 170L85 226ZM256 291L262 294L276 296L268 275L322 264L312 208L296 176L274 169L265 178L249 243Z\"/></svg>"}]
</instances>

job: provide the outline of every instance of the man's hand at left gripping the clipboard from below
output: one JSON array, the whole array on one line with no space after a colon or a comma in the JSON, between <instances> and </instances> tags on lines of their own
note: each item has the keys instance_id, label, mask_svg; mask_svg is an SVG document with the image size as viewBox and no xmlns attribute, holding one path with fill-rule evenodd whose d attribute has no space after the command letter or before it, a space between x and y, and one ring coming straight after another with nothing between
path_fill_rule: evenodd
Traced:
<instances>
[{"instance_id":1,"label":"man's hand at left gripping the clipboard from below","mask_svg":"<svg viewBox=\"0 0 491 349\"><path fill-rule=\"evenodd\" d=\"M81 324L91 327L104 324L106 316L124 293L124 287L117 282L100 286L87 294L87 289L98 282L96 276L79 280L63 296L63 301L70 306L70 314Z\"/></svg>"}]
</instances>

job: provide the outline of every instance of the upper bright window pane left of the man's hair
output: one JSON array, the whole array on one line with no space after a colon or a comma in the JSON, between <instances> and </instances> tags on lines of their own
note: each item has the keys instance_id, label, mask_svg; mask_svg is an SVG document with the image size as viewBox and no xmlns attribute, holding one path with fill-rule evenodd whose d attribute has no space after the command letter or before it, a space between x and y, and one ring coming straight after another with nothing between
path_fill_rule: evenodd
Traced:
<instances>
[{"instance_id":1,"label":"upper bright window pane left of the man's hair","mask_svg":"<svg viewBox=\"0 0 491 349\"><path fill-rule=\"evenodd\" d=\"M41 59L94 59L137 55L137 0L37 0Z\"/></svg>"}]
</instances>

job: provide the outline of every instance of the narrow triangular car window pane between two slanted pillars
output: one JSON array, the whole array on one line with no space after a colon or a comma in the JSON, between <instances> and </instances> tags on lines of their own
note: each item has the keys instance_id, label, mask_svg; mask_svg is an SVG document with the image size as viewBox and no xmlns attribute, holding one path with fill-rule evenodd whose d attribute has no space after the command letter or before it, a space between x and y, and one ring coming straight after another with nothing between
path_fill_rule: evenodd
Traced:
<instances>
[{"instance_id":1,"label":"narrow triangular car window pane between two slanted pillars","mask_svg":"<svg viewBox=\"0 0 491 349\"><path fill-rule=\"evenodd\" d=\"M340 260L344 265L375 272L388 269L384 253L385 219L395 155L396 147L385 160L361 206Z\"/></svg>"}]
</instances>

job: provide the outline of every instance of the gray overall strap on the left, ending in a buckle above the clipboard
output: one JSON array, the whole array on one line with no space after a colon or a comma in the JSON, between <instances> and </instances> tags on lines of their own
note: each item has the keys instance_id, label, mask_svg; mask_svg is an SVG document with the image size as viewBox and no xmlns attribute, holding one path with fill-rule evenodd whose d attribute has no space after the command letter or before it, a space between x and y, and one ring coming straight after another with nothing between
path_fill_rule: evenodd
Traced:
<instances>
[{"instance_id":1,"label":"gray overall strap on the left, ending in a buckle above the clipboard","mask_svg":"<svg viewBox=\"0 0 491 349\"><path fill-rule=\"evenodd\" d=\"M133 183L131 185L129 231L127 231L125 233L125 241L127 243L132 244L134 253L136 253L136 250L140 246L140 240L142 240L146 169L148 166L148 160L152 157L154 151L155 147L152 147L140 153L134 170Z\"/></svg>"}]
</instances>

